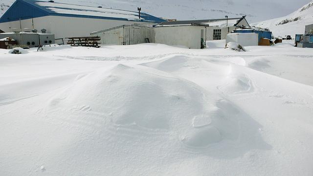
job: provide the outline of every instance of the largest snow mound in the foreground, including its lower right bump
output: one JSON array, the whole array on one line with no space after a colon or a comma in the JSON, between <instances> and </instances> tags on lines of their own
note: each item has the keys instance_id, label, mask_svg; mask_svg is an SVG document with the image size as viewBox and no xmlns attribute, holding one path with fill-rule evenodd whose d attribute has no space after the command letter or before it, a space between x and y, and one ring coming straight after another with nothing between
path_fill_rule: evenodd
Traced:
<instances>
[{"instance_id":1,"label":"largest snow mound in the foreground, including its lower right bump","mask_svg":"<svg viewBox=\"0 0 313 176\"><path fill-rule=\"evenodd\" d=\"M196 149L224 139L239 140L237 117L246 118L230 102L194 83L153 68L122 64L78 77L48 107L49 114L61 121L90 123L82 113L100 114L101 129L123 128L142 135L169 132L183 146Z\"/></svg>"}]
</instances>

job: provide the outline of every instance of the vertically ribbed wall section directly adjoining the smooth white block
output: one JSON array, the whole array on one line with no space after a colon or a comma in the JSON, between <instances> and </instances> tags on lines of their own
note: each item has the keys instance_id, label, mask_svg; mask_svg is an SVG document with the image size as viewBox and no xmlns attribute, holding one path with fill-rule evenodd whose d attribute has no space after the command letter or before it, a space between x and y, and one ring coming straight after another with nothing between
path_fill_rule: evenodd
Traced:
<instances>
[{"instance_id":1,"label":"vertically ribbed wall section directly adjoining the smooth white block","mask_svg":"<svg viewBox=\"0 0 313 176\"><path fill-rule=\"evenodd\" d=\"M155 43L155 31L148 27L124 26L124 44L143 44L146 38L150 43Z\"/></svg>"}]
</instances>

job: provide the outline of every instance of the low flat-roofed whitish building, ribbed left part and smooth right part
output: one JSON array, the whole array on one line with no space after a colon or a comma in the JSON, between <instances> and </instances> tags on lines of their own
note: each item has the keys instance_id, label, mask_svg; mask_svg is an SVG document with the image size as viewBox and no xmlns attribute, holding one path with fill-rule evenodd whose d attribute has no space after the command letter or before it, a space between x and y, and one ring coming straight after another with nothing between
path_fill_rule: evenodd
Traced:
<instances>
[{"instance_id":1,"label":"low flat-roofed whitish building, ribbed left part and smooth right part","mask_svg":"<svg viewBox=\"0 0 313 176\"><path fill-rule=\"evenodd\" d=\"M122 25L90 33L101 37L102 44L156 43L184 46L191 49L205 47L206 25L143 26Z\"/></svg>"}]
</instances>

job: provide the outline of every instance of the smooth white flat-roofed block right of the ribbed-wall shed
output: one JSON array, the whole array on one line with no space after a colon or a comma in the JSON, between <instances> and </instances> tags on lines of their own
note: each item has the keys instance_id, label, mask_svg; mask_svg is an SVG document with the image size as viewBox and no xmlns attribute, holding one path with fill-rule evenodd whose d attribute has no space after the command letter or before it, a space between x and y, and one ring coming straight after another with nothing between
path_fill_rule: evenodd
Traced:
<instances>
[{"instance_id":1,"label":"smooth white flat-roofed block right of the ribbed-wall shed","mask_svg":"<svg viewBox=\"0 0 313 176\"><path fill-rule=\"evenodd\" d=\"M166 26L155 28L157 44L182 45L192 49L201 48L202 26Z\"/></svg>"}]
</instances>

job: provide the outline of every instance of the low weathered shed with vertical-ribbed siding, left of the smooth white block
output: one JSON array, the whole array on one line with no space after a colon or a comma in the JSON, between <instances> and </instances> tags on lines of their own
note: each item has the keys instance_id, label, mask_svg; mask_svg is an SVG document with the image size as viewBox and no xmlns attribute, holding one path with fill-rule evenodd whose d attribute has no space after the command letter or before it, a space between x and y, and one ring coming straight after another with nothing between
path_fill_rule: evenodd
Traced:
<instances>
[{"instance_id":1,"label":"low weathered shed with vertical-ribbed siding, left of the smooth white block","mask_svg":"<svg viewBox=\"0 0 313 176\"><path fill-rule=\"evenodd\" d=\"M143 44L155 43L155 30L149 26L121 25L110 29L90 33L101 37L102 44Z\"/></svg>"}]
</instances>

